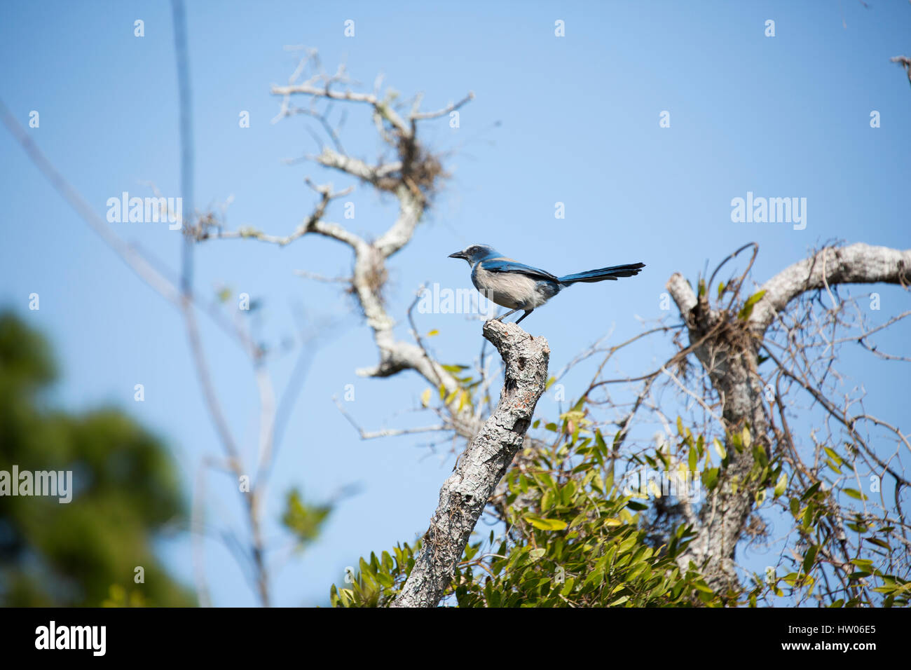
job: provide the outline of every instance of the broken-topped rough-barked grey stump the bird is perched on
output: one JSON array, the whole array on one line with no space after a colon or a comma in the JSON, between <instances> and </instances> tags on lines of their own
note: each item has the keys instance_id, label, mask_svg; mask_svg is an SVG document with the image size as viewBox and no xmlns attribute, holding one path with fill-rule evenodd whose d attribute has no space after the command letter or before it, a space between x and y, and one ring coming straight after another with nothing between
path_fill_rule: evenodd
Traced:
<instances>
[{"instance_id":1,"label":"broken-topped rough-barked grey stump the bird is perched on","mask_svg":"<svg viewBox=\"0 0 911 670\"><path fill-rule=\"evenodd\" d=\"M452 581L475 524L522 447L548 379L550 349L515 324L488 321L484 336L503 356L505 381L496 410L440 489L415 567L393 607L435 607Z\"/></svg>"}]
</instances>

